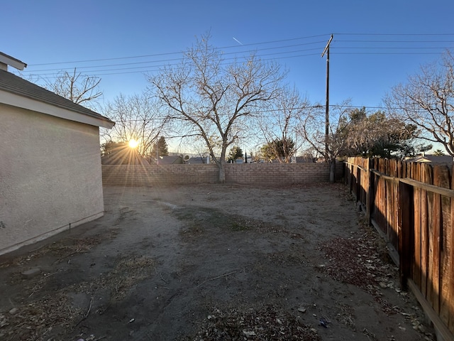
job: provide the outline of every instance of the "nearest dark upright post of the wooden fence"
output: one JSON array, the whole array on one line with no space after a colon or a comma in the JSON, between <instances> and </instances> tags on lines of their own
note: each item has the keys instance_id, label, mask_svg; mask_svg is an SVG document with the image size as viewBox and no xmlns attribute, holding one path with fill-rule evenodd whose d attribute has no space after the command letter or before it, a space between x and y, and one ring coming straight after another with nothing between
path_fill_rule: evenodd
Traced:
<instances>
[{"instance_id":1,"label":"nearest dark upright post of the wooden fence","mask_svg":"<svg viewBox=\"0 0 454 341\"><path fill-rule=\"evenodd\" d=\"M414 231L412 217L413 187L406 183L399 182L399 274L400 283L403 289L407 288L406 280L411 276L413 264Z\"/></svg>"}]
</instances>

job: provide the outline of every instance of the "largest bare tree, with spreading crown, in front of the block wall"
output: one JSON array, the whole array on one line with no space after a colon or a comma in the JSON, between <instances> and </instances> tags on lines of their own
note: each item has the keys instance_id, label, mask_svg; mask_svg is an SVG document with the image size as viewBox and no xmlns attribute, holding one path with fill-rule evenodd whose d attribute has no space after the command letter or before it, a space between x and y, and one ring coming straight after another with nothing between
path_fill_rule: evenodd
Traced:
<instances>
[{"instance_id":1,"label":"largest bare tree, with spreading crown, in front of the block wall","mask_svg":"<svg viewBox=\"0 0 454 341\"><path fill-rule=\"evenodd\" d=\"M248 120L275 99L284 74L255 55L227 64L209 38L206 34L197 40L180 65L165 67L148 80L182 136L205 141L223 183L228 146L248 134ZM221 155L215 153L213 136L221 139Z\"/></svg>"}]
</instances>

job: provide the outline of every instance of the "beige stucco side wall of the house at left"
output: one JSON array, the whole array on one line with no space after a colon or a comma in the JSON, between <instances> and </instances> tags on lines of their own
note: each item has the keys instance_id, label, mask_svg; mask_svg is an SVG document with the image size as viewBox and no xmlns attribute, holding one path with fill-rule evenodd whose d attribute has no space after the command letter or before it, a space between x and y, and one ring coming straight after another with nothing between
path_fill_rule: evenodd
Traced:
<instances>
[{"instance_id":1,"label":"beige stucco side wall of the house at left","mask_svg":"<svg viewBox=\"0 0 454 341\"><path fill-rule=\"evenodd\" d=\"M0 144L0 254L103 215L99 127L0 104Z\"/></svg>"}]
</instances>

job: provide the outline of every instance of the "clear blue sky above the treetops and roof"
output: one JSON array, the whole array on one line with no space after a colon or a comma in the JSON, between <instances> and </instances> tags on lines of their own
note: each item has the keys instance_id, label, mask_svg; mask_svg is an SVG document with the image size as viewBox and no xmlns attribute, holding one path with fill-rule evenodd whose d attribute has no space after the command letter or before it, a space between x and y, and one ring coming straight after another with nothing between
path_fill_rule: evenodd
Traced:
<instances>
[{"instance_id":1,"label":"clear blue sky above the treetops and roof","mask_svg":"<svg viewBox=\"0 0 454 341\"><path fill-rule=\"evenodd\" d=\"M421 0L2 2L0 50L28 64L24 76L77 67L101 77L104 101L143 91L143 70L177 58L172 53L207 31L226 52L257 49L262 58L275 58L289 70L290 84L322 104L321 53L333 33L330 104L350 98L359 107L380 106L421 64L454 49L452 0L431 3L436 6ZM68 61L75 63L62 63Z\"/></svg>"}]
</instances>

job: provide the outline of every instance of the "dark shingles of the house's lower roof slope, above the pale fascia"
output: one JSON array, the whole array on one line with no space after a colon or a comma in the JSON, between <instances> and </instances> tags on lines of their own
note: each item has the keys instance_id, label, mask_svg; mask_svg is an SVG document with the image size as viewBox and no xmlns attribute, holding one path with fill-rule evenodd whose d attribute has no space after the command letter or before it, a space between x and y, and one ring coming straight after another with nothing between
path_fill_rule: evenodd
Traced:
<instances>
[{"instance_id":1,"label":"dark shingles of the house's lower roof slope, above the pale fascia","mask_svg":"<svg viewBox=\"0 0 454 341\"><path fill-rule=\"evenodd\" d=\"M77 112L79 114L84 114L89 117L94 117L96 119L101 119L102 121L114 124L114 121L111 121L107 117L87 109L86 107L82 107L82 105L76 104L65 97L55 94L54 92L45 90L43 87L35 85L32 82L28 82L28 80L24 80L23 78L13 75L8 71L0 70L0 90L28 97L30 99L35 99L39 102L51 104L55 107L67 109L72 112Z\"/></svg>"}]
</instances>

